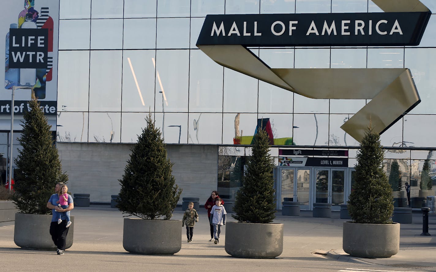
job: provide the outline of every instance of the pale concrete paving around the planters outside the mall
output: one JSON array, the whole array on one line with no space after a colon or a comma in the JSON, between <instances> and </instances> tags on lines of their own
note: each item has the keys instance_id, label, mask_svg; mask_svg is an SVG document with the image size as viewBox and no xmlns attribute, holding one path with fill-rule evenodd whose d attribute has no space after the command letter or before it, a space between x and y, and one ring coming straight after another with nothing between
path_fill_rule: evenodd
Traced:
<instances>
[{"instance_id":1,"label":"pale concrete paving around the planters outside the mall","mask_svg":"<svg viewBox=\"0 0 436 272\"><path fill-rule=\"evenodd\" d=\"M94 205L76 207L74 243L63 260L74 265L70 271L348 271L354 265L378 271L436 271L436 215L429 215L429 233L421 236L422 214L413 214L413 224L402 224L400 251L388 259L353 258L342 250L342 224L339 212L331 218L313 218L312 212L300 216L282 216L277 213L275 223L284 224L283 253L276 259L238 259L224 250L225 226L220 244L210 239L206 210L200 208L200 221L194 227L193 242L186 242L185 228L181 227L182 249L173 256L129 254L123 248L123 215L115 208ZM181 219L183 211L177 208L172 219ZM235 221L230 215L228 221ZM48 230L48 226L47 226ZM14 244L14 222L0 223L1 271L47 271L57 268L55 252L31 251ZM254 237L255 239L255 237ZM61 257L61 256L59 256ZM61 257L61 258L62 258ZM17 265L19 264L19 265ZM53 266L54 265L54 266ZM175 266L176 265L176 266ZM381 269L380 265L386 265ZM181 267L179 267L181 266ZM292 268L292 269L290 269ZM382 267L383 268L383 267ZM407 269L407 270L405 270ZM366 270L364 270L366 271Z\"/></svg>"}]
</instances>

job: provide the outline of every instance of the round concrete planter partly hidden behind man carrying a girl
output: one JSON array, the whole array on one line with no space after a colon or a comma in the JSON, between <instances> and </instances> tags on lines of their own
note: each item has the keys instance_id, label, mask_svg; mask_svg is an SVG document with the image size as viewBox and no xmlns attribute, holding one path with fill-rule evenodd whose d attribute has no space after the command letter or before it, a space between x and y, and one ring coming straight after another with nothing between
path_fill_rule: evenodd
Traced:
<instances>
[{"instance_id":1,"label":"round concrete planter partly hidden behind man carrying a girl","mask_svg":"<svg viewBox=\"0 0 436 272\"><path fill-rule=\"evenodd\" d=\"M65 248L73 245L74 216L71 216ZM14 242L20 248L36 250L56 250L50 235L51 215L15 214Z\"/></svg>"}]
</instances>

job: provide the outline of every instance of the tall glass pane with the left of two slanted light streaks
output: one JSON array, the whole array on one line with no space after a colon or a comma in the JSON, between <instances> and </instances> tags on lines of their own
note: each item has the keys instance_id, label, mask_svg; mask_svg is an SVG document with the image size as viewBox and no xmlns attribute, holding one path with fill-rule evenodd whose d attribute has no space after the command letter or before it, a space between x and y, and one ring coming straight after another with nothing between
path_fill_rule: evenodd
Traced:
<instances>
[{"instance_id":1,"label":"tall glass pane with the left of two slanted light streaks","mask_svg":"<svg viewBox=\"0 0 436 272\"><path fill-rule=\"evenodd\" d=\"M123 54L123 111L154 111L156 51L124 50Z\"/></svg>"}]
</instances>

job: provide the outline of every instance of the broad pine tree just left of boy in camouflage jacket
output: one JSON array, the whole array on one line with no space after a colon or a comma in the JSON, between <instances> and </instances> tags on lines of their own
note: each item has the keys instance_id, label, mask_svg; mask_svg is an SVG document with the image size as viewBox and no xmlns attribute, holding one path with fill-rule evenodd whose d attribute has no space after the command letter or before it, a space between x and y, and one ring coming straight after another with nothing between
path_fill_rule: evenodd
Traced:
<instances>
[{"instance_id":1,"label":"broad pine tree just left of boy in camouflage jacket","mask_svg":"<svg viewBox=\"0 0 436 272\"><path fill-rule=\"evenodd\" d=\"M173 164L167 159L164 139L151 114L131 151L123 179L119 180L117 207L126 216L170 219L182 190L175 185Z\"/></svg>"}]
</instances>

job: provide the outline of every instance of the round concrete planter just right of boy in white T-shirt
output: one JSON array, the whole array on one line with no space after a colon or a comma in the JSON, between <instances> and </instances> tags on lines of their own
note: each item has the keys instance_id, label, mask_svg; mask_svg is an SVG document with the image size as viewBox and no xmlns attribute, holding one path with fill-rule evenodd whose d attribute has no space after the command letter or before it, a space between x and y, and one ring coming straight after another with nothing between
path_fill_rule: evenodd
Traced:
<instances>
[{"instance_id":1,"label":"round concrete planter just right of boy in white T-shirt","mask_svg":"<svg viewBox=\"0 0 436 272\"><path fill-rule=\"evenodd\" d=\"M283 224L227 222L225 252L237 258L276 258L283 252Z\"/></svg>"}]
</instances>

